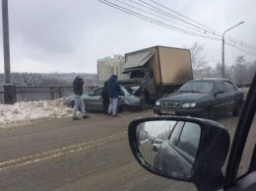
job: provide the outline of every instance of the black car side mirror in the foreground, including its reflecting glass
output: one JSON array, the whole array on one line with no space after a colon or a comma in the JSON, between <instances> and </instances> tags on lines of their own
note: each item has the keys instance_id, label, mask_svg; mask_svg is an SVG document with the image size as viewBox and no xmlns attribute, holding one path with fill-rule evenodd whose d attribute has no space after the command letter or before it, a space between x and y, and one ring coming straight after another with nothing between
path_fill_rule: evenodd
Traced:
<instances>
[{"instance_id":1,"label":"black car side mirror in the foreground, including its reflecting glass","mask_svg":"<svg viewBox=\"0 0 256 191\"><path fill-rule=\"evenodd\" d=\"M192 182L198 190L223 185L230 139L218 122L178 116L139 118L130 123L128 138L135 159L152 173Z\"/></svg>"}]
</instances>

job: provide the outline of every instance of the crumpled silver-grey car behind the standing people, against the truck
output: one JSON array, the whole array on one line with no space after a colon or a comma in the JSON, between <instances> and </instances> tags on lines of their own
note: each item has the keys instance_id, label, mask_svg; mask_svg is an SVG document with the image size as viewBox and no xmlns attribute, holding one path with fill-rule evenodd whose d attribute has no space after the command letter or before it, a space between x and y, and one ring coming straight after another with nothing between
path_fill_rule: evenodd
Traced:
<instances>
[{"instance_id":1,"label":"crumpled silver-grey car behind the standing people, against the truck","mask_svg":"<svg viewBox=\"0 0 256 191\"><path fill-rule=\"evenodd\" d=\"M102 104L102 86L96 88L89 94L84 94L82 96L87 110L93 111L103 111L103 104ZM136 89L125 89L121 87L121 91L118 95L117 101L117 110L118 112L124 110L142 110L145 108L145 101L143 97L135 96ZM71 95L67 99L67 105L73 107L75 103L74 95Z\"/></svg>"}]
</instances>

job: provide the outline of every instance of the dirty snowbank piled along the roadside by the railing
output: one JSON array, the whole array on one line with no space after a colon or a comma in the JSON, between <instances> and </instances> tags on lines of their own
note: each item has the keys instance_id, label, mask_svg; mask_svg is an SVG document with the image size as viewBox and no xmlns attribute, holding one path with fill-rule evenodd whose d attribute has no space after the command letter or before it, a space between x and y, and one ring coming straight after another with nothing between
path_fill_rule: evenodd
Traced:
<instances>
[{"instance_id":1,"label":"dirty snowbank piled along the roadside by the railing","mask_svg":"<svg viewBox=\"0 0 256 191\"><path fill-rule=\"evenodd\" d=\"M36 120L72 117L72 108L66 106L66 97L0 104L0 128L29 124Z\"/></svg>"}]
</instances>

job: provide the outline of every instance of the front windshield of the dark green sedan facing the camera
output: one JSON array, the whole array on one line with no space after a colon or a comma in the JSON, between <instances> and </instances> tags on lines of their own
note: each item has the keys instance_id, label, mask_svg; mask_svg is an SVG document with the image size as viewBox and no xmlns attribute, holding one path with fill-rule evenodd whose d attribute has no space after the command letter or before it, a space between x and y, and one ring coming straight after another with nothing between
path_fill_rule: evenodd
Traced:
<instances>
[{"instance_id":1,"label":"front windshield of the dark green sedan facing the camera","mask_svg":"<svg viewBox=\"0 0 256 191\"><path fill-rule=\"evenodd\" d=\"M183 85L179 91L182 93L212 93L214 82L192 81Z\"/></svg>"}]
</instances>

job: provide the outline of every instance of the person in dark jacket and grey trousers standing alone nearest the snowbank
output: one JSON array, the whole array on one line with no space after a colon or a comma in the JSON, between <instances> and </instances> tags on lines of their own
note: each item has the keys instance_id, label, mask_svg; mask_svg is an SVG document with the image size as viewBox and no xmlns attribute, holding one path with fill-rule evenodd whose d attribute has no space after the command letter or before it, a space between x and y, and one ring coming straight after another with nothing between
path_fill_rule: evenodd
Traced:
<instances>
[{"instance_id":1,"label":"person in dark jacket and grey trousers standing alone nearest the snowbank","mask_svg":"<svg viewBox=\"0 0 256 191\"><path fill-rule=\"evenodd\" d=\"M74 97L75 97L75 104L74 104L74 107L73 107L73 120L79 120L80 119L77 116L77 111L79 109L79 106L81 108L83 118L85 119L85 118L90 117L86 113L86 105L85 105L84 100L82 99L83 85L84 85L83 76L80 74L76 77L76 79L73 82L73 92L74 92Z\"/></svg>"}]
</instances>

